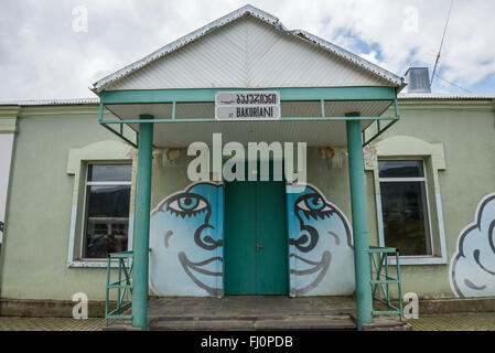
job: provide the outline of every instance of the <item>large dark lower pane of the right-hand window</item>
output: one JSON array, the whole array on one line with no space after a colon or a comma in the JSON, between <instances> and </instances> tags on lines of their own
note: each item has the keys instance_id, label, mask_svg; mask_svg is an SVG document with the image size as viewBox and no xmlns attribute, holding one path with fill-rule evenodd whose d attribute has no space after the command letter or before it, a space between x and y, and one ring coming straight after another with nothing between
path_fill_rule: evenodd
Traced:
<instances>
[{"instance_id":1,"label":"large dark lower pane of the right-hand window","mask_svg":"<svg viewBox=\"0 0 495 353\"><path fill-rule=\"evenodd\" d=\"M424 182L380 182L385 245L431 255Z\"/></svg>"}]
</instances>

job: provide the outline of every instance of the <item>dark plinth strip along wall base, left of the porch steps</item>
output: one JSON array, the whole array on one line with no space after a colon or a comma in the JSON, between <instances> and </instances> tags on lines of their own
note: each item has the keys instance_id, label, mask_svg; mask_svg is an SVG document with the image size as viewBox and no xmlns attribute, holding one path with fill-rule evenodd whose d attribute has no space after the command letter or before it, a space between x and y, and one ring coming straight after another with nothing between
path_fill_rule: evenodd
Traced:
<instances>
[{"instance_id":1,"label":"dark plinth strip along wall base, left of the porch steps","mask_svg":"<svg viewBox=\"0 0 495 353\"><path fill-rule=\"evenodd\" d=\"M76 302L69 300L8 299L0 298L0 317L72 318ZM115 302L110 302L110 310ZM105 301L88 302L89 318L105 317Z\"/></svg>"}]
</instances>

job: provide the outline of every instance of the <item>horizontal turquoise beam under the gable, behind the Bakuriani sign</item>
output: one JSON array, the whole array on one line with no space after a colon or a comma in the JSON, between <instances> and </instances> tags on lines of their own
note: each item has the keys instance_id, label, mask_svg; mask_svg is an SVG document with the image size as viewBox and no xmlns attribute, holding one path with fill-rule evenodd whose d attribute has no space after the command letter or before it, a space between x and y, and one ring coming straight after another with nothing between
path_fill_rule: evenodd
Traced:
<instances>
[{"instance_id":1,"label":"horizontal turquoise beam under the gable, behind the Bakuriani sign","mask_svg":"<svg viewBox=\"0 0 495 353\"><path fill-rule=\"evenodd\" d=\"M306 88L193 88L193 89L129 89L105 90L100 101L109 104L152 104L215 101L216 92L280 90L281 100L394 100L395 87L306 87Z\"/></svg>"}]
</instances>

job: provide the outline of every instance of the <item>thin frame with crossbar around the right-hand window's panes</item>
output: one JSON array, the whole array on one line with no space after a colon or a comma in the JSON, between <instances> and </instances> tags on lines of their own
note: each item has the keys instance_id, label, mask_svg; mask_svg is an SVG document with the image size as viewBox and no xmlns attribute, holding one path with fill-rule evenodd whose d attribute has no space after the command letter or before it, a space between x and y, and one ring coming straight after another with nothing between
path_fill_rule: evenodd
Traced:
<instances>
[{"instance_id":1,"label":"thin frame with crossbar around the right-hand window's panes","mask_svg":"<svg viewBox=\"0 0 495 353\"><path fill-rule=\"evenodd\" d=\"M427 245L427 249L430 250L431 254L424 254L424 255L401 255L400 257L403 259L407 258L419 258L419 257L434 257L433 255L433 234L431 232L431 203L430 203L430 199L429 199L429 192L428 192L428 178L427 178L427 167L426 167L426 161L424 158L420 158L420 157L399 157L399 158L379 158L377 159L377 163L379 164L379 162L381 161L420 161L421 162L421 167L422 167L422 171L423 171L423 176L407 176L407 178L380 178L379 173L378 173L378 184L380 188L380 196L381 196L381 183L383 182L424 182L424 199L426 199L426 207L427 207L427 214L428 214L428 229L426 232L426 236L428 238L428 245ZM384 225L384 210L381 206L381 201L380 201L380 208L377 210L378 211L378 216L381 217L381 235L383 235L383 239L380 239L380 243L383 240L383 246L387 246L387 244L385 243L385 228L383 227ZM427 228L427 227L426 227ZM400 249L399 249L400 250Z\"/></svg>"}]
</instances>

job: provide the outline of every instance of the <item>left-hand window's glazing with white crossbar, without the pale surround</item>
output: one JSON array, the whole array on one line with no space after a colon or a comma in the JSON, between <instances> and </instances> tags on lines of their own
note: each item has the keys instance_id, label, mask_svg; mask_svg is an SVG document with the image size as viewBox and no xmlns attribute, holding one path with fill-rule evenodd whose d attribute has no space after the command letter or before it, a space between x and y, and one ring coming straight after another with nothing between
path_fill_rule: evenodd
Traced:
<instances>
[{"instance_id":1,"label":"left-hand window's glazing with white crossbar, without the pale surround","mask_svg":"<svg viewBox=\"0 0 495 353\"><path fill-rule=\"evenodd\" d=\"M127 250L131 164L88 164L83 258Z\"/></svg>"}]
</instances>

